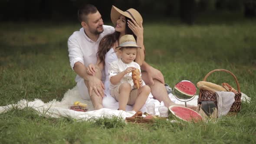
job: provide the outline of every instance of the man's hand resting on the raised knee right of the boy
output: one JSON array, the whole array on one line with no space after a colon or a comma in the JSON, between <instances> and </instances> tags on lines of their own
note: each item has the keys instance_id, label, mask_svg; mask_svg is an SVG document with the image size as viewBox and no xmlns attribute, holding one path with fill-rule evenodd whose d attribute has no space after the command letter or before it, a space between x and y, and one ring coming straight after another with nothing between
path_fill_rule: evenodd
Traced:
<instances>
[{"instance_id":1,"label":"man's hand resting on the raised knee right of the boy","mask_svg":"<svg viewBox=\"0 0 256 144\"><path fill-rule=\"evenodd\" d=\"M148 69L147 73L150 85L154 85L153 79L157 79L164 84L164 75L158 69L155 69L151 66L150 69Z\"/></svg>"}]
</instances>

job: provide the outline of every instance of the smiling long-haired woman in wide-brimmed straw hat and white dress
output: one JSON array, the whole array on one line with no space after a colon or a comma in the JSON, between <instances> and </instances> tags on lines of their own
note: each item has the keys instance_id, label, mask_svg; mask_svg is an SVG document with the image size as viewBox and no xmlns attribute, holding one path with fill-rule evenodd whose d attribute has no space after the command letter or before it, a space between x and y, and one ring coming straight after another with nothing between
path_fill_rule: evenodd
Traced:
<instances>
[{"instance_id":1,"label":"smiling long-haired woman in wide-brimmed straw hat and white dress","mask_svg":"<svg viewBox=\"0 0 256 144\"><path fill-rule=\"evenodd\" d=\"M117 52L115 49L118 46L118 40L121 36L125 34L131 34L135 37L136 43L141 49L138 49L137 56L135 62L139 65L142 65L144 62L144 45L143 45L143 26L142 22L143 19L135 9L129 9L126 12L119 10L118 8L112 6L111 10L111 20L112 23L115 25L115 33L105 36L101 43L99 44L98 48L98 62L100 65L104 65L105 67L105 95L106 97L103 98L102 104L104 108L118 108L118 102L115 101L113 97L111 97L109 92L109 77L108 77L108 67L110 63L115 61L116 59L120 58L120 53ZM138 23L140 25L138 25ZM150 95L150 98L153 98ZM148 100L150 100L148 98ZM156 101L156 100L154 100ZM157 101L158 102L158 101ZM126 110L131 110L131 106L126 107Z\"/></svg>"}]
</instances>

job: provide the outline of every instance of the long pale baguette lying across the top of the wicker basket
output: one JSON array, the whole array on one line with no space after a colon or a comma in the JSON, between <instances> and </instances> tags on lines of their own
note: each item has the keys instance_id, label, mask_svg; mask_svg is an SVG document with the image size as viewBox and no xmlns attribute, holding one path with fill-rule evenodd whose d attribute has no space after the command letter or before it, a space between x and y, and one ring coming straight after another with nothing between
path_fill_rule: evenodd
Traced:
<instances>
[{"instance_id":1,"label":"long pale baguette lying across the top of the wicker basket","mask_svg":"<svg viewBox=\"0 0 256 144\"><path fill-rule=\"evenodd\" d=\"M211 83L211 82L205 82L205 81L197 82L197 87L201 88L203 90L210 89L210 91L212 91L212 92L217 92L217 91L226 92L227 91L225 88L223 88L220 85L217 85L217 84L214 84L214 83Z\"/></svg>"}]
</instances>

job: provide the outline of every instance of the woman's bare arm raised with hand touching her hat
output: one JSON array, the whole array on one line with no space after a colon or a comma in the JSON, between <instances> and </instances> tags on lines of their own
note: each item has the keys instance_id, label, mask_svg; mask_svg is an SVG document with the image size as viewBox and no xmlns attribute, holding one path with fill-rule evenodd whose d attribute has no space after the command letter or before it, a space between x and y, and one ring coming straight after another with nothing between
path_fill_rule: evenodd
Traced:
<instances>
[{"instance_id":1,"label":"woman's bare arm raised with hand touching her hat","mask_svg":"<svg viewBox=\"0 0 256 144\"><path fill-rule=\"evenodd\" d=\"M144 44L143 44L144 38L143 38L142 22L140 22L140 25L138 25L135 20L132 20L132 22L130 20L128 20L128 27L135 34L135 36L137 36L136 43L139 47L141 47L141 49L138 49L135 62L137 62L139 65L142 65L142 63L144 62L144 57L145 57L145 55L144 55L145 48L144 48Z\"/></svg>"}]
</instances>

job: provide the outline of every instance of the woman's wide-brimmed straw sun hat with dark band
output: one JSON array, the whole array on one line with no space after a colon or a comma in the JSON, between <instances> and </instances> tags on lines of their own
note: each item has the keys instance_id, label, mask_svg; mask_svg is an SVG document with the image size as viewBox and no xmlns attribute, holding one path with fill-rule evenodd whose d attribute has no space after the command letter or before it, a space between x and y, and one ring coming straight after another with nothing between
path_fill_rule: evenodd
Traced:
<instances>
[{"instance_id":1,"label":"woman's wide-brimmed straw sun hat with dark band","mask_svg":"<svg viewBox=\"0 0 256 144\"><path fill-rule=\"evenodd\" d=\"M112 6L110 16L111 16L111 21L112 21L112 23L114 23L114 25L116 25L116 21L118 20L120 15L124 15L130 19L133 19L138 24L141 24L141 22L143 22L142 16L137 10L131 8L124 12L124 11L118 9L117 7Z\"/></svg>"}]
</instances>

